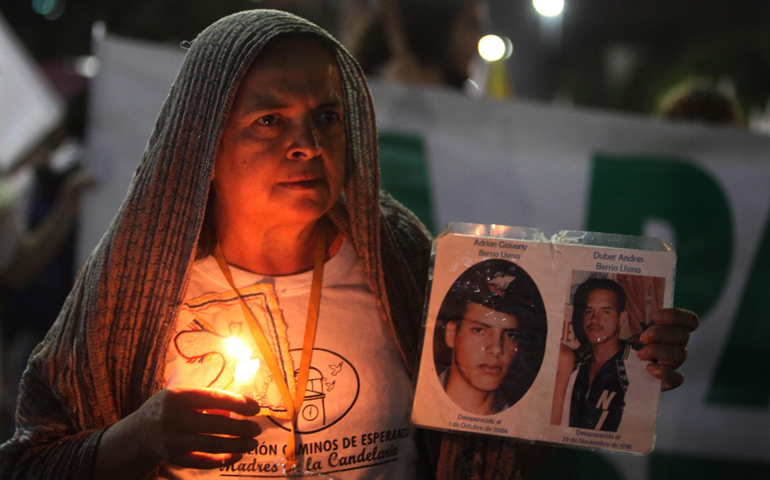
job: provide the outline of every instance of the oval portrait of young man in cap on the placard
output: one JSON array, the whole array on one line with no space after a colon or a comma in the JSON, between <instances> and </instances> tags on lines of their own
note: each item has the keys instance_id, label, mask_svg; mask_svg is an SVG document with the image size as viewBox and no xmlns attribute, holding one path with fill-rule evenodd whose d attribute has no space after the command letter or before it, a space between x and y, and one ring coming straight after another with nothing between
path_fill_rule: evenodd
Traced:
<instances>
[{"instance_id":1,"label":"oval portrait of young man in cap on the placard","mask_svg":"<svg viewBox=\"0 0 770 480\"><path fill-rule=\"evenodd\" d=\"M438 321L437 371L459 407L492 415L526 393L542 363L546 321L537 287L520 267L487 260L469 268Z\"/></svg>"}]
</instances>

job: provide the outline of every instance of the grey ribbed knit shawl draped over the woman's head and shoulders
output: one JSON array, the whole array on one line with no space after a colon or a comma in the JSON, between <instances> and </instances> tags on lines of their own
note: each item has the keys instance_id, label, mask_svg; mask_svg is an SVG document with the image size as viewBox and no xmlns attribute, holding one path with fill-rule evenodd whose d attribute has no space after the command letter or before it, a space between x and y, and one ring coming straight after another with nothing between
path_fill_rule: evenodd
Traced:
<instances>
[{"instance_id":1,"label":"grey ribbed knit shawl draped over the woman's head and shoulders","mask_svg":"<svg viewBox=\"0 0 770 480\"><path fill-rule=\"evenodd\" d=\"M413 372L428 236L408 210L380 198L374 110L363 74L317 26L277 11L241 12L192 43L119 213L33 353L16 435L0 447L0 477L15 471L18 478L88 478L104 428L162 388L229 107L255 57L285 33L316 35L335 52L347 157L343 196L329 217L362 259L383 321ZM478 450L458 445L444 450L462 450L478 462ZM502 462L509 470L511 459Z\"/></svg>"}]
</instances>

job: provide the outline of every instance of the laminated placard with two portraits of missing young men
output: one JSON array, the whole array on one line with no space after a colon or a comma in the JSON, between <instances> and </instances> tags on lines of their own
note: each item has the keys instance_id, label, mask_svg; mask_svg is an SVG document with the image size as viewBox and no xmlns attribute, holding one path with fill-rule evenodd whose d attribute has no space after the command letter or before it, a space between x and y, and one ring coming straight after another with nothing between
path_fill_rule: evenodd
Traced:
<instances>
[{"instance_id":1,"label":"laminated placard with two portraits of missing young men","mask_svg":"<svg viewBox=\"0 0 770 480\"><path fill-rule=\"evenodd\" d=\"M432 255L415 425L653 449L660 381L637 352L673 303L669 243L450 223Z\"/></svg>"}]
</instances>

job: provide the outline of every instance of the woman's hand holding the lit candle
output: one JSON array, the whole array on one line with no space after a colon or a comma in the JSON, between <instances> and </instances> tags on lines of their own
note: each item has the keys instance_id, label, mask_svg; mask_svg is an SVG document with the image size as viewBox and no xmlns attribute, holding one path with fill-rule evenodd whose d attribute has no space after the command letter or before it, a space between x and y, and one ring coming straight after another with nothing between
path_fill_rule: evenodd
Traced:
<instances>
[{"instance_id":1,"label":"woman's hand holding the lit candle","mask_svg":"<svg viewBox=\"0 0 770 480\"><path fill-rule=\"evenodd\" d=\"M162 462L185 468L230 465L254 450L261 433L256 401L223 390L170 386L102 436L93 478L143 478Z\"/></svg>"}]
</instances>

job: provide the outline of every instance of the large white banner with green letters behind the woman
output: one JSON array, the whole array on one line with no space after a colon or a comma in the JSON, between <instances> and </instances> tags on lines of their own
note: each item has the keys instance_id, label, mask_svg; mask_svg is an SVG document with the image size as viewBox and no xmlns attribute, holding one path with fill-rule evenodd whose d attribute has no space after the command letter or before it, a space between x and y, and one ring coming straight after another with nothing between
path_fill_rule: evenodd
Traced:
<instances>
[{"instance_id":1,"label":"large white banner with green letters behind the woman","mask_svg":"<svg viewBox=\"0 0 770 480\"><path fill-rule=\"evenodd\" d=\"M91 103L81 258L117 211L184 55L110 37ZM770 138L371 85L383 188L449 221L662 236L702 320L647 457L560 449L539 478L770 478Z\"/></svg>"}]
</instances>

